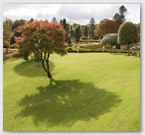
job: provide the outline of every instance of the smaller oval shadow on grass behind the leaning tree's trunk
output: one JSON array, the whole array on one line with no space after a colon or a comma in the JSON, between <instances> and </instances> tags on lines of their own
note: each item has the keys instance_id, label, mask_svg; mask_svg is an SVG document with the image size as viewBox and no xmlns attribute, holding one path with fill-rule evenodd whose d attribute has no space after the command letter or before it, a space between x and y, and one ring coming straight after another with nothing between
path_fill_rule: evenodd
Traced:
<instances>
[{"instance_id":1,"label":"smaller oval shadow on grass behind the leaning tree's trunk","mask_svg":"<svg viewBox=\"0 0 145 135\"><path fill-rule=\"evenodd\" d=\"M52 72L55 65L53 62L49 61L50 71ZM41 77L46 75L41 63L38 64L34 60L24 61L13 68L14 72L21 76L26 77Z\"/></svg>"}]
</instances>

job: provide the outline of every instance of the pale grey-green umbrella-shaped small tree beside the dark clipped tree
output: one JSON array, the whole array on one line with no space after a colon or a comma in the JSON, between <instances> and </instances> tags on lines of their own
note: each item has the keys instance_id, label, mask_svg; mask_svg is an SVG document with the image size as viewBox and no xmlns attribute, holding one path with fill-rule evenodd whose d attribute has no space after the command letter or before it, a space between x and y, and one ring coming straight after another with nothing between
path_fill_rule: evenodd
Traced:
<instances>
[{"instance_id":1,"label":"pale grey-green umbrella-shaped small tree beside the dark clipped tree","mask_svg":"<svg viewBox=\"0 0 145 135\"><path fill-rule=\"evenodd\" d=\"M112 45L117 44L117 33L107 34L106 36L104 36L101 40L101 44L111 45L110 53L112 53Z\"/></svg>"}]
</instances>

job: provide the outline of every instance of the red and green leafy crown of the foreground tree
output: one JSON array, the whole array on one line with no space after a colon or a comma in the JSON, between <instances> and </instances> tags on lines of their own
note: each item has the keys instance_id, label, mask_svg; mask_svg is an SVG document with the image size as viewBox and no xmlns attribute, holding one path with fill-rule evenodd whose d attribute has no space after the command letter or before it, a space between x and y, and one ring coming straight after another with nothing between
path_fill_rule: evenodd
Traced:
<instances>
[{"instance_id":1,"label":"red and green leafy crown of the foreground tree","mask_svg":"<svg viewBox=\"0 0 145 135\"><path fill-rule=\"evenodd\" d=\"M22 36L15 37L15 41L23 47L30 47L33 51L41 48L41 51L48 49L50 53L64 52L66 32L57 22L35 20L19 26L17 32Z\"/></svg>"}]
</instances>

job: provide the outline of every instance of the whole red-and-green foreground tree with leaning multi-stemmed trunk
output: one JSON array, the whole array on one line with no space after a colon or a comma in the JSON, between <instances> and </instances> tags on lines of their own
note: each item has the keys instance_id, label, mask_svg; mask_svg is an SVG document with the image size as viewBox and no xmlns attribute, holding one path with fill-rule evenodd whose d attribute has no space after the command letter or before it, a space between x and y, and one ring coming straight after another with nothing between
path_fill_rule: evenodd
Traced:
<instances>
[{"instance_id":1,"label":"whole red-and-green foreground tree with leaning multi-stemmed trunk","mask_svg":"<svg viewBox=\"0 0 145 135\"><path fill-rule=\"evenodd\" d=\"M52 83L49 57L54 52L61 56L66 54L65 30L56 22L33 21L19 27L18 32L22 33L22 37L16 37L19 48L25 48L34 54Z\"/></svg>"}]
</instances>

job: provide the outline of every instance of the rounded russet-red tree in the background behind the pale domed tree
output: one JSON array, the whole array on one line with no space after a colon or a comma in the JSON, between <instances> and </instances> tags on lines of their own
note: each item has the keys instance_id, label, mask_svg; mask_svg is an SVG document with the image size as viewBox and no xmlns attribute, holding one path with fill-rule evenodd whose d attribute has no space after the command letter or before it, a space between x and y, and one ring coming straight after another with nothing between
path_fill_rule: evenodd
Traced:
<instances>
[{"instance_id":1,"label":"rounded russet-red tree in the background behind the pale domed tree","mask_svg":"<svg viewBox=\"0 0 145 135\"><path fill-rule=\"evenodd\" d=\"M117 30L118 30L118 26L116 24L116 21L103 19L97 25L94 34L95 36L103 37L110 33L117 33Z\"/></svg>"}]
</instances>

